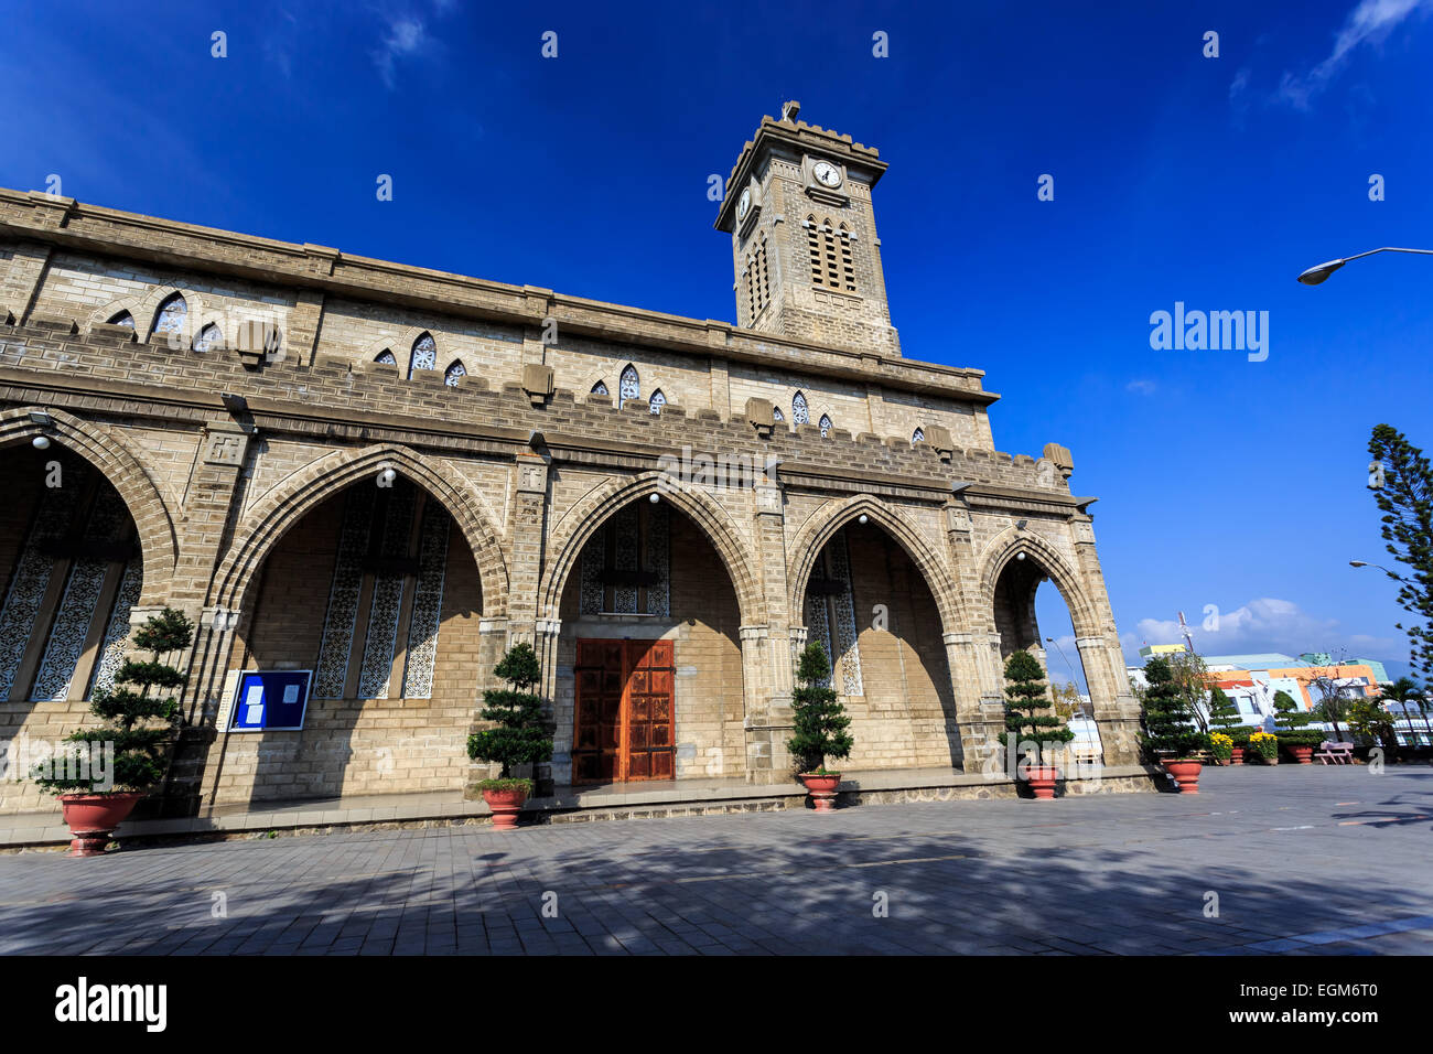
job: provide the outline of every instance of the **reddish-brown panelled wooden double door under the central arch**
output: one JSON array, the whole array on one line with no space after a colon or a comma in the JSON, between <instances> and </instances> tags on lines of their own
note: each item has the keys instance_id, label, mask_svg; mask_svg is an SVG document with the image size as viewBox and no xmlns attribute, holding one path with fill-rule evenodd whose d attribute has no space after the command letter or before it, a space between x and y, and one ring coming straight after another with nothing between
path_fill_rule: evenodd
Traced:
<instances>
[{"instance_id":1,"label":"reddish-brown panelled wooden double door under the central arch","mask_svg":"<svg viewBox=\"0 0 1433 1054\"><path fill-rule=\"evenodd\" d=\"M676 777L672 641L577 641L573 783Z\"/></svg>"}]
</instances>

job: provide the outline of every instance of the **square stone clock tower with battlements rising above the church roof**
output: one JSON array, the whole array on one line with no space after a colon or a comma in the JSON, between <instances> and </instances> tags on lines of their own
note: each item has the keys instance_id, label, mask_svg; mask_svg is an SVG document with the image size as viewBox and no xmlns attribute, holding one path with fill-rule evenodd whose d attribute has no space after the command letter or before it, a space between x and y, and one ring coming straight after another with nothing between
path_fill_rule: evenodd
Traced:
<instances>
[{"instance_id":1,"label":"square stone clock tower with battlements rising above the church roof","mask_svg":"<svg viewBox=\"0 0 1433 1054\"><path fill-rule=\"evenodd\" d=\"M898 356L871 191L871 146L797 120L762 118L727 179L716 229L731 235L737 324L792 340Z\"/></svg>"}]
</instances>

